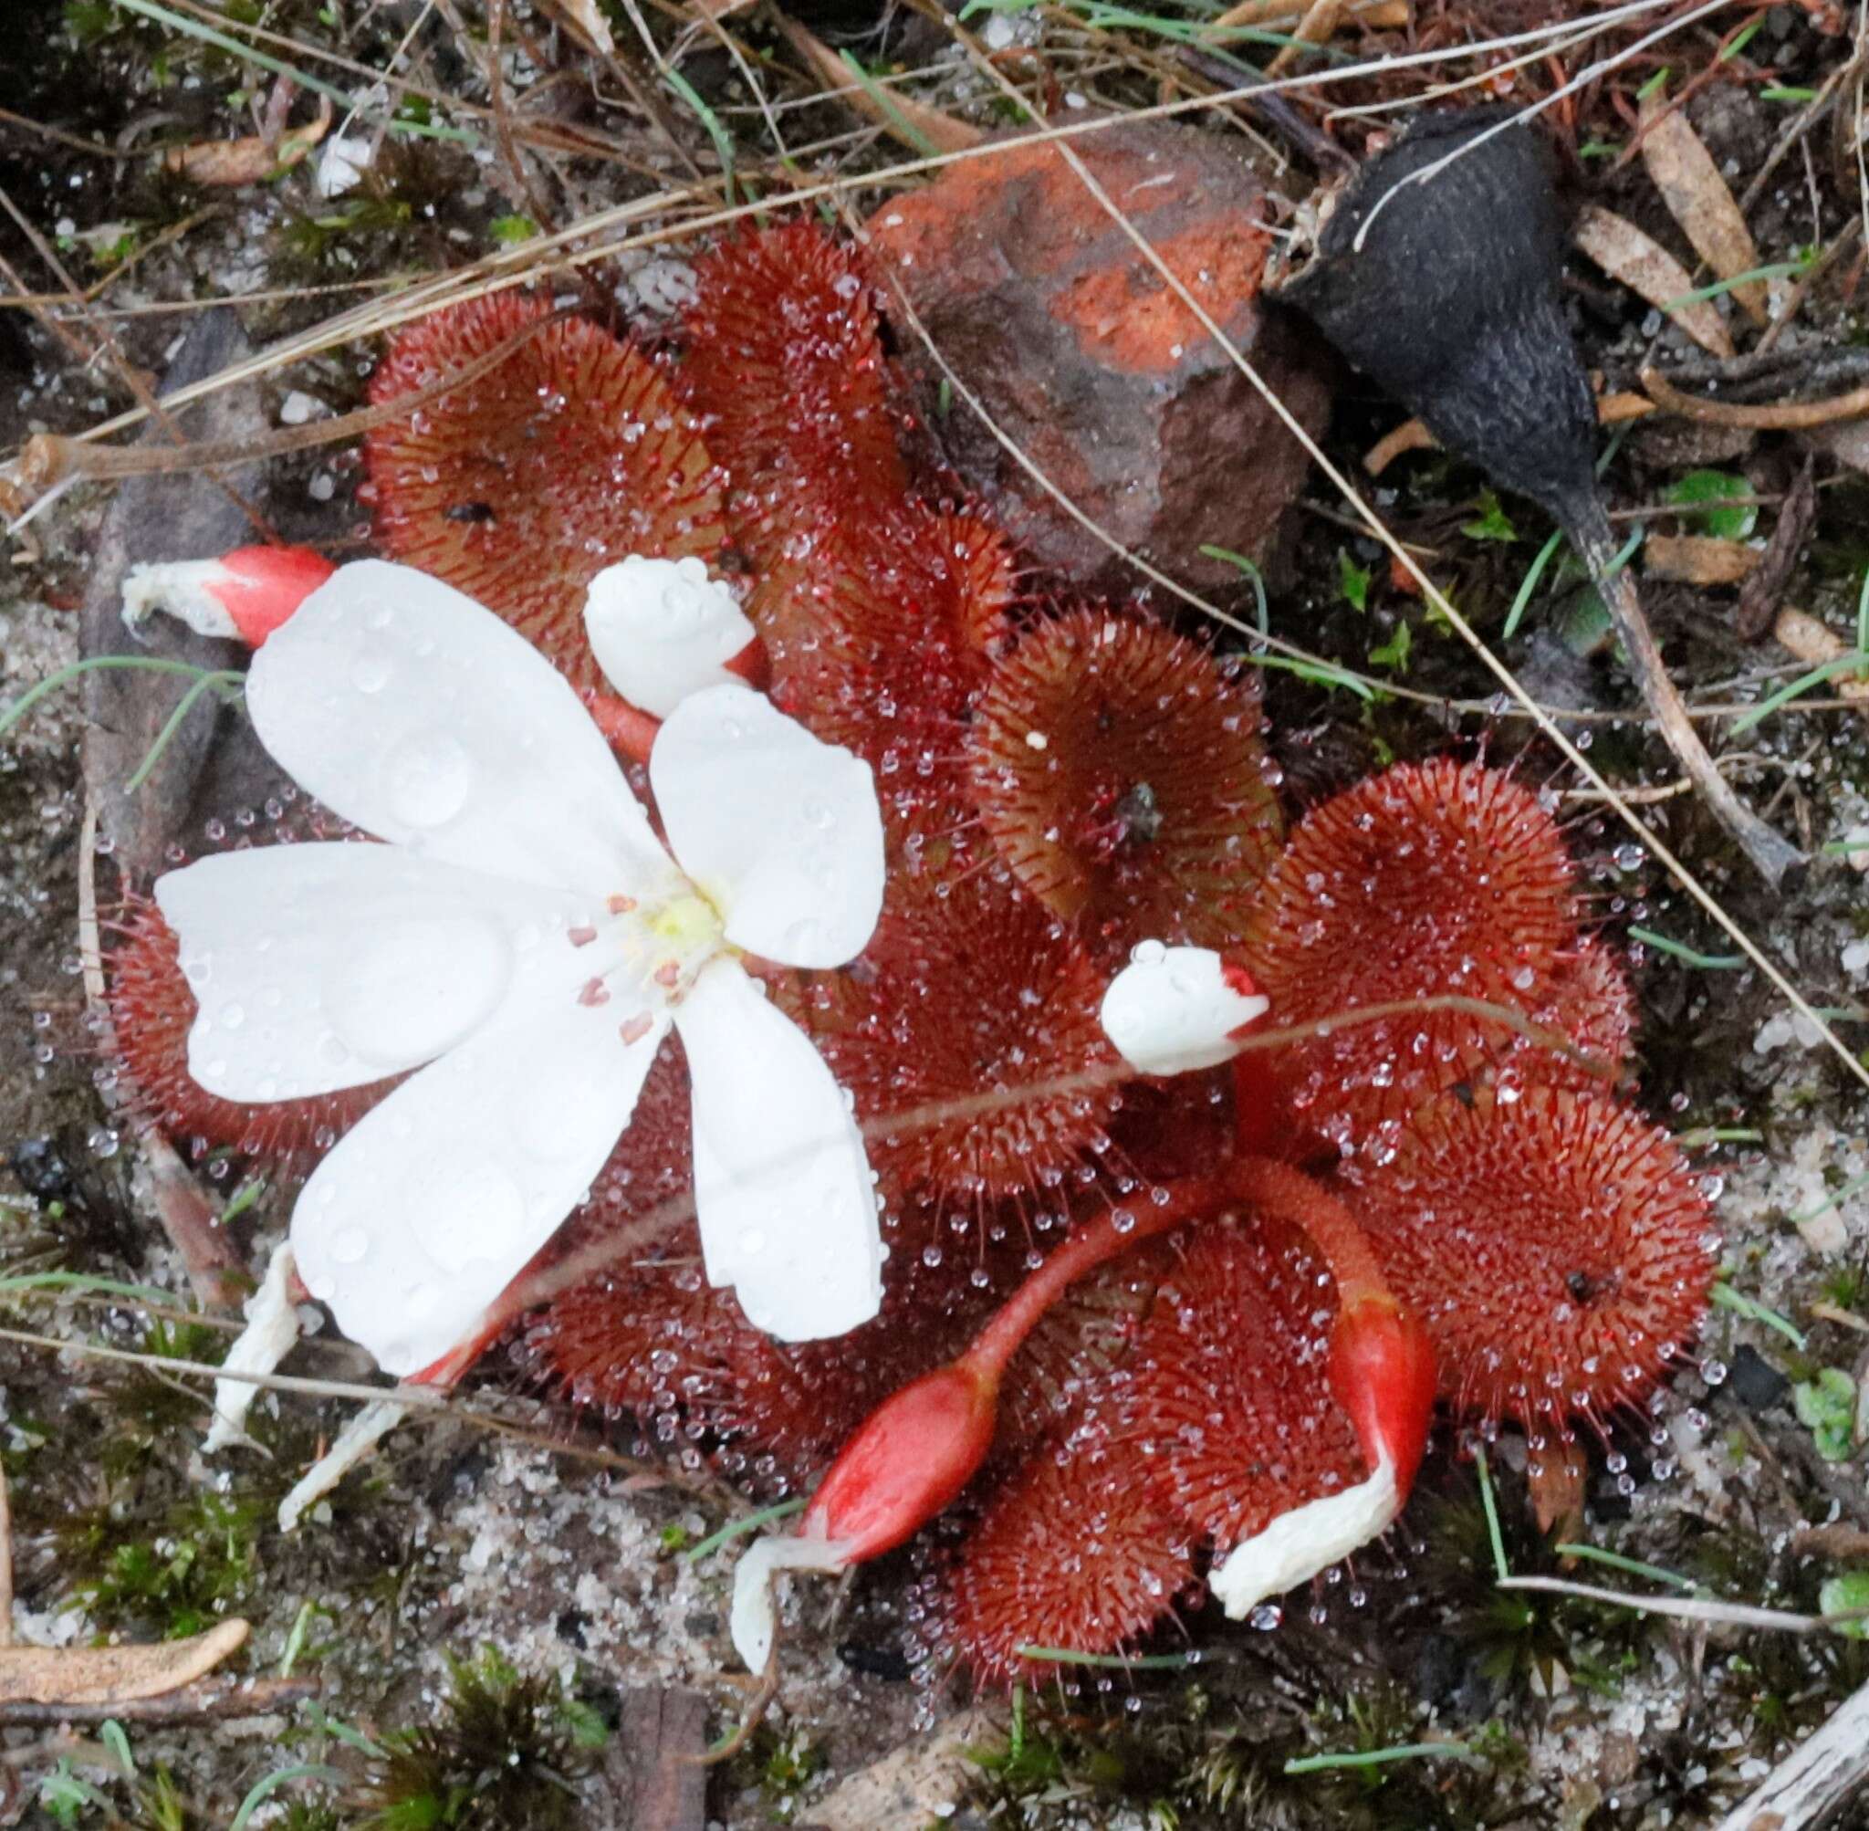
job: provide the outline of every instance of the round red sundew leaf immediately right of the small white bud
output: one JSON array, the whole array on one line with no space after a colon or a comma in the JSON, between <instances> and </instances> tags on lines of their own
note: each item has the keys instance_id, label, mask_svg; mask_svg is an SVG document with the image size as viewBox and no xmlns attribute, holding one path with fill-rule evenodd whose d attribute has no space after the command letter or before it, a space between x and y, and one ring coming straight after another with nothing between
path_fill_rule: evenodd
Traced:
<instances>
[{"instance_id":1,"label":"round red sundew leaf immediately right of the small white bud","mask_svg":"<svg viewBox=\"0 0 1869 1831\"><path fill-rule=\"evenodd\" d=\"M1510 776L1404 763L1314 808L1265 879L1239 950L1299 1025L1361 1004L1462 995L1546 1008L1576 944L1557 823ZM1497 1023L1463 1012L1385 1017L1297 1044L1291 1105L1338 1146L1484 1072Z\"/></svg>"}]
</instances>

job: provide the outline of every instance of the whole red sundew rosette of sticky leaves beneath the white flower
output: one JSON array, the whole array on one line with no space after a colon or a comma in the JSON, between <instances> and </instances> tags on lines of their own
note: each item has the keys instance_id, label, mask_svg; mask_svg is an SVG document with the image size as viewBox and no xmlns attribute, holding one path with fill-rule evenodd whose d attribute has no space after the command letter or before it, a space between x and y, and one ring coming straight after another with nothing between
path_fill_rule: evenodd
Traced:
<instances>
[{"instance_id":1,"label":"whole red sundew rosette of sticky leaves beneath the white flower","mask_svg":"<svg viewBox=\"0 0 1869 1831\"><path fill-rule=\"evenodd\" d=\"M766 1489L822 1476L798 1530L742 1560L748 1661L768 1657L772 1571L845 1569L949 1506L914 1616L931 1666L1006 1681L1045 1665L1022 1648L1106 1653L1202 1577L1237 1618L1394 1519L1435 1391L1544 1435L1647 1397L1706 1305L1706 1203L1611 1092L1628 989L1579 930L1540 799L1405 763L1280 840L1256 694L1207 647L1133 608L1026 595L989 520L940 503L938 479L916 492L852 252L792 224L697 279L656 359L555 322L374 434L368 464L385 550L518 623L587 699L617 679L579 619L592 574L632 552L731 574L731 593L688 580L667 612L720 636L703 679L757 647L770 699L742 681L735 703L847 746L875 786L867 941L835 965L740 952L770 991L746 1021L796 1025L867 1133L880 1311L776 1339L727 1289L785 1242L764 1214L710 1234L708 1038L671 959L654 984L673 1016L626 1016L622 1038L693 1032L480 1315L523 1334L540 1380L688 1457ZM508 297L411 327L376 398L542 310ZM688 873L652 931L699 931L708 870L678 843L697 800L658 776L688 705L609 709ZM705 765L697 729L680 742ZM598 915L641 911L609 896ZM596 933L579 920L568 941ZM708 959L716 982L746 971ZM142 1074L170 1087L181 1006L140 1025L146 941L110 971L120 1025L166 1064ZM1435 1008L1448 995L1465 1006ZM578 1002L607 999L592 973ZM1256 1029L1303 1034L1252 1049Z\"/></svg>"}]
</instances>

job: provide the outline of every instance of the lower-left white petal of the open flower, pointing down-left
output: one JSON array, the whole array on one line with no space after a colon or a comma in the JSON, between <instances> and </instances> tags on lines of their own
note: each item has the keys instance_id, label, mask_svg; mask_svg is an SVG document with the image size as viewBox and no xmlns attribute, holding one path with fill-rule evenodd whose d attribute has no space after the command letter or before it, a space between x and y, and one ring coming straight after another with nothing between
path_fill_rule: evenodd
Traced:
<instances>
[{"instance_id":1,"label":"lower-left white petal of the open flower, pointing down-left","mask_svg":"<svg viewBox=\"0 0 1869 1831\"><path fill-rule=\"evenodd\" d=\"M630 1044L617 1001L471 1036L318 1165L292 1214L299 1272L378 1365L439 1360L551 1238L630 1122L667 1031L647 1016Z\"/></svg>"}]
</instances>

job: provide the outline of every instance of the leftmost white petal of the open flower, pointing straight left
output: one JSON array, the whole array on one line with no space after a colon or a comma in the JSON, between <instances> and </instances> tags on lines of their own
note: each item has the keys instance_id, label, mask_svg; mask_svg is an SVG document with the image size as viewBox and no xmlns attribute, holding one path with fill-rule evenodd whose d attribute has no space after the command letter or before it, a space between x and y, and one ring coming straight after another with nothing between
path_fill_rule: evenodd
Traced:
<instances>
[{"instance_id":1,"label":"leftmost white petal of the open flower, pointing straight left","mask_svg":"<svg viewBox=\"0 0 1869 1831\"><path fill-rule=\"evenodd\" d=\"M200 1006L189 1074L226 1100L363 1087L548 999L592 967L598 903L400 845L217 853L155 881Z\"/></svg>"}]
</instances>

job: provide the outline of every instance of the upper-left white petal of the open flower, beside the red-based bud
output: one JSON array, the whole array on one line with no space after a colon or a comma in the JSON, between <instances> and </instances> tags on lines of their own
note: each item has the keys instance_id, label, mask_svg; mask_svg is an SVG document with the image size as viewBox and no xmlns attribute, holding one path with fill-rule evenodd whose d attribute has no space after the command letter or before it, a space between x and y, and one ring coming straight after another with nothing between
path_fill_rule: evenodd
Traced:
<instances>
[{"instance_id":1,"label":"upper-left white petal of the open flower, beside the red-based bud","mask_svg":"<svg viewBox=\"0 0 1869 1831\"><path fill-rule=\"evenodd\" d=\"M379 840L592 896L667 872L563 675L411 567L340 567L254 655L247 709L303 789Z\"/></svg>"}]
</instances>

